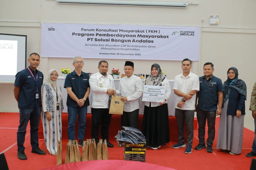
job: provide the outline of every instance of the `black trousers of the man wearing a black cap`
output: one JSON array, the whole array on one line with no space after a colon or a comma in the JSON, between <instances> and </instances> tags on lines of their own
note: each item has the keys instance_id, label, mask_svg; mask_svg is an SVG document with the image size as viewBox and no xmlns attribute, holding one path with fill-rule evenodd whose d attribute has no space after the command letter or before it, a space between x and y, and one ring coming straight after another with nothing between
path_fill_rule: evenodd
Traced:
<instances>
[{"instance_id":1,"label":"black trousers of the man wearing a black cap","mask_svg":"<svg viewBox=\"0 0 256 170\"><path fill-rule=\"evenodd\" d=\"M132 112L123 112L123 115L121 115L121 129L122 126L138 129L138 118L139 109L133 110Z\"/></svg>"}]
</instances>

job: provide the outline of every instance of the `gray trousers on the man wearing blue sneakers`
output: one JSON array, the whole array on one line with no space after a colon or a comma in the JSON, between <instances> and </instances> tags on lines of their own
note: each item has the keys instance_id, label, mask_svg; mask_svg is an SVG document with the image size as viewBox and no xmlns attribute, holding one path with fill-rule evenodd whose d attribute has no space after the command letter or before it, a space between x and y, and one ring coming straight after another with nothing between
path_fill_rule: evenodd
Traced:
<instances>
[{"instance_id":1,"label":"gray trousers on the man wearing blue sneakers","mask_svg":"<svg viewBox=\"0 0 256 170\"><path fill-rule=\"evenodd\" d=\"M192 145L194 137L194 114L195 110L181 110L175 108L175 116L178 124L178 140L181 144L185 143L184 140L184 124L187 124L187 145Z\"/></svg>"}]
</instances>

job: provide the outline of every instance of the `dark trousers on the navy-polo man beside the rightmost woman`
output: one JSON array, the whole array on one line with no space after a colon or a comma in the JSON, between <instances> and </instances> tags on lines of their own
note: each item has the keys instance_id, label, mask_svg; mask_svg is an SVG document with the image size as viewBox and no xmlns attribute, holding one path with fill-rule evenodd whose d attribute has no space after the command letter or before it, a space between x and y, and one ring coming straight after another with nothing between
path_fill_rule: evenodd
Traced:
<instances>
[{"instance_id":1,"label":"dark trousers on the navy-polo man beside the rightmost woman","mask_svg":"<svg viewBox=\"0 0 256 170\"><path fill-rule=\"evenodd\" d=\"M197 109L197 121L198 121L198 139L199 144L205 144L204 136L205 136L205 124L207 119L208 125L208 138L207 145L212 146L213 140L215 138L215 119L216 119L216 111L204 111Z\"/></svg>"}]
</instances>

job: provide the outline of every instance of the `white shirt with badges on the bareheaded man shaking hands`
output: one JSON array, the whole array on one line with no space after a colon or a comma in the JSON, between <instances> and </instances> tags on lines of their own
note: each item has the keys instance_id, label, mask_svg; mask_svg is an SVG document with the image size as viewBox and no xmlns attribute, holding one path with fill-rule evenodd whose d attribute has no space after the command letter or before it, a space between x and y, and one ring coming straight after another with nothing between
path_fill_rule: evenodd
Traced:
<instances>
[{"instance_id":1,"label":"white shirt with badges on the bareheaded man shaking hands","mask_svg":"<svg viewBox=\"0 0 256 170\"><path fill-rule=\"evenodd\" d=\"M100 72L93 74L89 79L92 89L92 108L108 108L108 89L116 89L114 79L107 74L104 77Z\"/></svg>"}]
</instances>

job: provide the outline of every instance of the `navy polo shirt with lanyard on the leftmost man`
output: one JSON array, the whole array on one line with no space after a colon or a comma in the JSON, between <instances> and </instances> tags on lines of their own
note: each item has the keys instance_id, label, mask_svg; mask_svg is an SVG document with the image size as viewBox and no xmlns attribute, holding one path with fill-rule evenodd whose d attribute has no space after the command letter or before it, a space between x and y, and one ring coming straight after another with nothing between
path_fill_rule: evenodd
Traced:
<instances>
[{"instance_id":1,"label":"navy polo shirt with lanyard on the leftmost man","mask_svg":"<svg viewBox=\"0 0 256 170\"><path fill-rule=\"evenodd\" d=\"M42 99L41 99L41 87L44 80L44 75L41 71L34 71L28 66L31 72L33 73L35 79L36 74L37 76L37 91L38 91L38 99L36 99L36 81L29 72L28 68L21 70L15 76L15 87L20 87L20 94L19 94L19 108L39 108L42 107Z\"/></svg>"}]
</instances>

